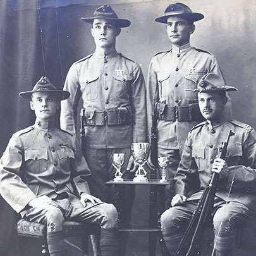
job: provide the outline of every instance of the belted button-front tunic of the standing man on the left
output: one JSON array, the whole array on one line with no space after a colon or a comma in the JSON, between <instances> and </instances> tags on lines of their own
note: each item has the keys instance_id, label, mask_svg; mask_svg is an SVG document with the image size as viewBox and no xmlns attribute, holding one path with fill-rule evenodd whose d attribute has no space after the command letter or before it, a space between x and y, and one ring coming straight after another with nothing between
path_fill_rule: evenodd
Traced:
<instances>
[{"instance_id":1,"label":"belted button-front tunic of the standing man on the left","mask_svg":"<svg viewBox=\"0 0 256 256\"><path fill-rule=\"evenodd\" d=\"M61 128L75 133L76 108L82 97L87 121L92 120L85 127L85 147L128 148L131 142L147 140L145 83L134 61L116 51L107 56L94 52L71 66L64 90L71 97L61 102ZM110 119L118 120L110 123ZM99 122L92 125L93 121Z\"/></svg>"}]
</instances>

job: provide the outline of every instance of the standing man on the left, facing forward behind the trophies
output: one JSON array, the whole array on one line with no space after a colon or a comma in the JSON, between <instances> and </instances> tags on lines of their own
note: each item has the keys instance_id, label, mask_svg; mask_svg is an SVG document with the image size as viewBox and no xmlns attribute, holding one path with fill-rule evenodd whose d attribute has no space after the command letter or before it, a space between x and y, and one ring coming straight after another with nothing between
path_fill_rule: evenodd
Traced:
<instances>
[{"instance_id":1,"label":"standing man on the left, facing forward behind the trophies","mask_svg":"<svg viewBox=\"0 0 256 256\"><path fill-rule=\"evenodd\" d=\"M96 49L68 71L64 90L71 97L61 104L61 128L75 134L76 108L82 97L86 118L84 155L92 172L90 191L109 202L110 190L105 183L113 178L113 153L125 154L123 178L131 178L127 168L131 143L147 140L145 83L139 64L116 51L116 37L130 21L118 18L109 5L82 20L92 24ZM127 190L122 207L126 223L134 198L134 190Z\"/></svg>"}]
</instances>

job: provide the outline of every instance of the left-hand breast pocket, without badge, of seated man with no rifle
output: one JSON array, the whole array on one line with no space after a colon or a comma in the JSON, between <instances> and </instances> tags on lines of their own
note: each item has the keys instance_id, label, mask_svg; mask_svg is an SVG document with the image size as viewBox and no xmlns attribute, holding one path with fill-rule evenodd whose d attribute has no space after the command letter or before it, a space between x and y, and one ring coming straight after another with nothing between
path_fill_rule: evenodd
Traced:
<instances>
[{"instance_id":1,"label":"left-hand breast pocket, without badge, of seated man with no rifle","mask_svg":"<svg viewBox=\"0 0 256 256\"><path fill-rule=\"evenodd\" d=\"M28 149L24 152L25 166L32 173L44 173L48 167L47 149Z\"/></svg>"}]
</instances>

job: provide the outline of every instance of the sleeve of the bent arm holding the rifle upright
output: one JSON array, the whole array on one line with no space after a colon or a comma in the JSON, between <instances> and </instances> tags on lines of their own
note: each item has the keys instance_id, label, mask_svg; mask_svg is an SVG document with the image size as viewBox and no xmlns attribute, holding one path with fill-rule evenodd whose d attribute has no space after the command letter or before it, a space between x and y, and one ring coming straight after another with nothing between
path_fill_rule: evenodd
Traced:
<instances>
[{"instance_id":1,"label":"sleeve of the bent arm holding the rifle upright","mask_svg":"<svg viewBox=\"0 0 256 256\"><path fill-rule=\"evenodd\" d=\"M232 191L256 191L256 132L249 128L243 142L243 155L237 166L230 166L228 188Z\"/></svg>"}]
</instances>

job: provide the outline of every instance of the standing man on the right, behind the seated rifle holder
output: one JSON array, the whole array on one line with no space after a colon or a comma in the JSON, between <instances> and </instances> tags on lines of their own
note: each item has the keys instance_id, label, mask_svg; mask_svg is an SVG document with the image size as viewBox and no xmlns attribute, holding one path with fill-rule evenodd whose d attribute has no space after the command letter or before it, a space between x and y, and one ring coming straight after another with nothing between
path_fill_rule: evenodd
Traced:
<instances>
[{"instance_id":1,"label":"standing man on the right, behind the seated rifle holder","mask_svg":"<svg viewBox=\"0 0 256 256\"><path fill-rule=\"evenodd\" d=\"M158 156L169 156L168 176L171 181L188 132L202 121L197 93L193 89L206 73L222 77L212 54L190 46L190 35L195 31L193 22L202 18L204 15L193 13L185 4L175 3L166 8L164 16L155 19L166 24L172 49L159 52L150 62L147 80L148 128L152 126L152 114L156 111Z\"/></svg>"}]
</instances>

